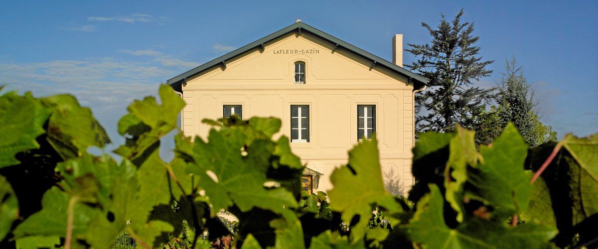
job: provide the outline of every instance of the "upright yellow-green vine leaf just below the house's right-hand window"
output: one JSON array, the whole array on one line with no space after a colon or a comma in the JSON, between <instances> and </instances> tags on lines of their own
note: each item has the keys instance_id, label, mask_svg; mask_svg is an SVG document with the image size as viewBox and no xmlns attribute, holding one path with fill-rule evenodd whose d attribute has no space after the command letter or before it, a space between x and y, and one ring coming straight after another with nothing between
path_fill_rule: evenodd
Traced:
<instances>
[{"instance_id":1,"label":"upright yellow-green vine leaf just below the house's right-hand window","mask_svg":"<svg viewBox=\"0 0 598 249\"><path fill-rule=\"evenodd\" d=\"M376 136L363 140L349 150L349 164L332 172L330 182L334 188L328 192L330 208L341 212L341 219L351 224L351 242L363 238L368 218L376 205L385 207L389 213L401 211L401 206L386 191L380 172Z\"/></svg>"}]
</instances>

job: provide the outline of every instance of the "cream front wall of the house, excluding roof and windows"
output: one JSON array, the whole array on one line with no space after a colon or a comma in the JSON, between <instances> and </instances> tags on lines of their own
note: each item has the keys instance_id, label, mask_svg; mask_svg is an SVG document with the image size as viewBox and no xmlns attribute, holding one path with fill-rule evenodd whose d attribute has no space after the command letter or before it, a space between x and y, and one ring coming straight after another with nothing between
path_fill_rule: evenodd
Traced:
<instances>
[{"instance_id":1,"label":"cream front wall of the house, excluding roof and windows","mask_svg":"<svg viewBox=\"0 0 598 249\"><path fill-rule=\"evenodd\" d=\"M387 188L405 193L412 185L413 85L398 73L309 33L283 36L214 67L182 87L186 136L206 137L203 118L221 118L224 104L242 104L243 117L282 120L275 137L291 134L291 104L309 104L310 141L291 143L307 167L318 171L317 190L331 189L328 177L347 163L357 138L357 105L376 104L376 133ZM295 50L297 53L295 53ZM306 84L294 84L294 63L306 63Z\"/></svg>"}]
</instances>

